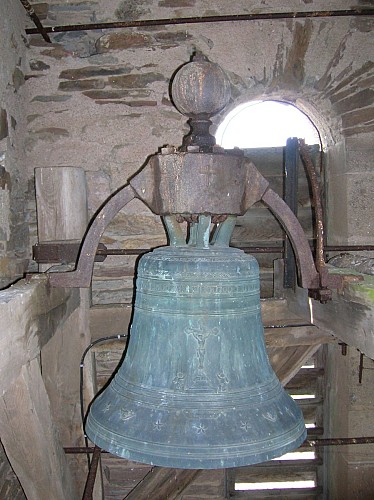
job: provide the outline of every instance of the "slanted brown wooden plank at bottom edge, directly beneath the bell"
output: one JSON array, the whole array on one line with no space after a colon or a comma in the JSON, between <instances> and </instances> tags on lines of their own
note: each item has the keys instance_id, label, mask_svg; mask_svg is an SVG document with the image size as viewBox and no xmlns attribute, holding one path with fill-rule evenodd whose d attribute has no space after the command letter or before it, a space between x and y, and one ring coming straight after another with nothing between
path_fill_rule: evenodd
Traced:
<instances>
[{"instance_id":1,"label":"slanted brown wooden plank at bottom edge, directly beneath the bell","mask_svg":"<svg viewBox=\"0 0 374 500\"><path fill-rule=\"evenodd\" d=\"M199 473L200 470L196 469L154 467L126 496L126 500L176 499Z\"/></svg>"}]
</instances>

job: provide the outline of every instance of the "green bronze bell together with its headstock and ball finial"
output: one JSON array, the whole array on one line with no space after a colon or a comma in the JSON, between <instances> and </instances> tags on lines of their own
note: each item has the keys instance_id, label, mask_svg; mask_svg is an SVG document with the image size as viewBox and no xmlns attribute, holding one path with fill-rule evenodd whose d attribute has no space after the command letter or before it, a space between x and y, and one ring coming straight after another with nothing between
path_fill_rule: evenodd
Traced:
<instances>
[{"instance_id":1,"label":"green bronze bell together with its headstock and ball finial","mask_svg":"<svg viewBox=\"0 0 374 500\"><path fill-rule=\"evenodd\" d=\"M257 261L229 247L235 215L268 184L237 152L214 145L209 117L227 103L229 84L213 65L206 88L211 69L200 57L177 73L173 99L191 133L130 181L163 216L170 246L139 261L127 352L86 423L91 441L111 453L186 469L267 461L306 437L266 354ZM199 174L204 184L193 182Z\"/></svg>"}]
</instances>

